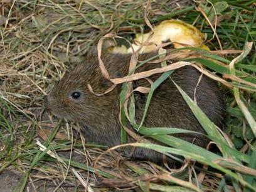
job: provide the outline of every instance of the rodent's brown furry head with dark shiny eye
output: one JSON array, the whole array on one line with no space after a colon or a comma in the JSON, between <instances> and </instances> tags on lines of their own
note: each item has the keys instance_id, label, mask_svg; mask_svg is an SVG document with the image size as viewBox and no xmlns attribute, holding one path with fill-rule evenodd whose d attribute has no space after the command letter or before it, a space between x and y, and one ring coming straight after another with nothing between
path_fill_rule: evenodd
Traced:
<instances>
[{"instance_id":1,"label":"rodent's brown furry head with dark shiny eye","mask_svg":"<svg viewBox=\"0 0 256 192\"><path fill-rule=\"evenodd\" d=\"M97 96L88 89L88 83L97 93L112 85L102 77L95 61L78 65L64 75L45 99L45 107L52 114L75 122L94 123L118 110L117 90Z\"/></svg>"}]
</instances>

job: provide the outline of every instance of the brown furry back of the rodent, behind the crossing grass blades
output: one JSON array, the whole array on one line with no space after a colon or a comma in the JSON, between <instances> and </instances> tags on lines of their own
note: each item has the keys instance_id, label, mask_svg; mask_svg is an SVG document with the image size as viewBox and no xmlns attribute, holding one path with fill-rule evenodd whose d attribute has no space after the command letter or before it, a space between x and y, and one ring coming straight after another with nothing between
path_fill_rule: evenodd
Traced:
<instances>
[{"instance_id":1,"label":"brown furry back of the rodent, behind the crossing grass blades","mask_svg":"<svg viewBox=\"0 0 256 192\"><path fill-rule=\"evenodd\" d=\"M143 54L139 56L138 60L147 60L154 55L156 55L156 53ZM107 71L112 77L124 77L127 75L130 59L131 55L105 55L102 58ZM160 63L146 63L136 72L144 72L159 67L161 67ZM160 77L160 75L160 73L155 74L149 78L152 81L155 81L158 77ZM176 69L174 73L171 74L171 78L184 90L184 92L189 95L189 97L191 97L191 99L196 100L198 106L216 125L221 127L223 124L223 117L225 116L223 93L214 80L211 80L211 78L208 78L205 75L200 78L201 75L202 74L198 72L196 68L186 66ZM150 84L144 79L134 81L133 85L134 88L139 86L150 87ZM136 95L137 99L136 114L137 119L139 119L142 115L141 113L144 111L146 95L137 92L134 94ZM165 80L154 91L154 95L152 96L151 104L149 105L149 110L147 112L145 125L151 127L163 127L163 124L167 124L167 122L164 123L161 121L163 119L163 117L159 117L161 114L169 114L169 121L172 122L173 126L176 127L181 127L186 120L188 120L192 126L192 122L195 124L197 122L193 113L184 101L181 93L170 78ZM188 116L185 116L185 114ZM196 124L196 127L201 128L201 126L198 124Z\"/></svg>"}]
</instances>

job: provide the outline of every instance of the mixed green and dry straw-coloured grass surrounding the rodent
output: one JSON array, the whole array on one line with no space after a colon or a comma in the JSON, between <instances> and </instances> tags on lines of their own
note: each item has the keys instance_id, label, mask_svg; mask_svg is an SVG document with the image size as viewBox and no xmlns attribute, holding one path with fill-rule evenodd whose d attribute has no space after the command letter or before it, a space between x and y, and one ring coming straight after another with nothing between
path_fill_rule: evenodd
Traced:
<instances>
[{"instance_id":1,"label":"mixed green and dry straw-coloured grass surrounding the rodent","mask_svg":"<svg viewBox=\"0 0 256 192\"><path fill-rule=\"evenodd\" d=\"M22 179L16 183L16 191L24 191L26 186L38 188L41 186L36 183L39 180L43 185L53 181L53 189L72 188L75 191L86 187L87 183L92 184L88 191L93 190L93 184L98 184L102 190L115 186L144 191L255 191L255 1L211 1L215 11L209 1L201 4L187 2L181 7L172 1L151 3L147 16L151 24L178 18L206 33L211 50L220 50L221 47L223 50L244 50L242 59L233 63L232 68L227 65L238 55L216 55L192 48L200 56L180 59L201 63L216 73L222 82L220 87L226 93L228 113L225 134L221 134L178 87L208 137L218 143L221 148L219 154L168 135L181 132L180 129L162 127L152 132L152 129L134 124L136 129L140 127L138 131L142 135L166 146L132 145L164 154L180 154L200 161L203 167L187 161L181 169L173 170L152 163L129 161L115 151L104 152L104 146L85 144L79 131L72 131L72 127L77 125L49 120L43 113L43 96L56 80L82 60L84 53L97 45L102 36L115 31L117 35L131 40L134 31L149 30L144 23L146 3L141 0L122 3L16 0L0 4L0 174L6 170L19 171ZM218 7L220 3L223 8ZM196 10L198 6L201 12ZM211 18L215 12L218 17L216 35L220 43L203 16L206 13ZM248 41L253 43L251 50L245 49ZM154 89L169 77L171 72L164 72L154 82L149 102ZM122 90L121 101L126 91ZM134 109L132 105L128 107L132 119ZM125 125L124 111L122 114ZM125 141L125 132L122 136L122 141ZM40 150L37 140L46 150ZM96 159L97 166L93 166ZM159 180L161 182L156 182Z\"/></svg>"}]
</instances>

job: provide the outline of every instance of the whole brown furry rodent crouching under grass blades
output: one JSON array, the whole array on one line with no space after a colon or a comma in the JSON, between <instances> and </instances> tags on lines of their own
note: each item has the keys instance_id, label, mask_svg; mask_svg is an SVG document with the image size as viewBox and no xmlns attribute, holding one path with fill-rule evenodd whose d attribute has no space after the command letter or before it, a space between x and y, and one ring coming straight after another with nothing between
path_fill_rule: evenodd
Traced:
<instances>
[{"instance_id":1,"label":"whole brown furry rodent crouching under grass blades","mask_svg":"<svg viewBox=\"0 0 256 192\"><path fill-rule=\"evenodd\" d=\"M140 55L139 61L146 60L153 55L156 53ZM131 55L102 55L102 61L112 78L127 75L130 59ZM138 72L158 67L161 67L160 63L148 63L139 68ZM154 81L160 75L152 75L149 78ZM193 67L182 67L175 70L171 77L193 99L200 75L201 73ZM102 77L96 51L88 53L82 64L56 83L45 101L46 108L58 117L81 124L87 141L105 146L119 145L121 85L103 96L97 96L90 92L87 87L88 83L95 93L102 93L112 85ZM150 85L146 80L136 80L133 84L134 87L149 87ZM138 123L142 118L147 97L142 93L135 93L135 99ZM225 110L223 110L223 94L216 82L203 76L196 88L196 101L203 112L221 127ZM205 133L181 93L169 78L155 90L143 125L146 127L176 127ZM206 137L200 134L176 134L175 136L202 147L208 142ZM127 142L134 142L134 140L128 136ZM125 149L125 155L131 152L130 149ZM133 151L132 157L159 162L162 154L149 149L137 148Z\"/></svg>"}]
</instances>

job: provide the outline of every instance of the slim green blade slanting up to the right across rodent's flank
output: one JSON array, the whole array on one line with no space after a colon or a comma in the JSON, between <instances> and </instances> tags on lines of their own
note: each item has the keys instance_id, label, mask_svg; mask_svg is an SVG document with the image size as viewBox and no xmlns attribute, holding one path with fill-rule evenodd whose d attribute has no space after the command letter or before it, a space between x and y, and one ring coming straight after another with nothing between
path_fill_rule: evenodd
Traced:
<instances>
[{"instance_id":1,"label":"slim green blade slanting up to the right across rodent's flank","mask_svg":"<svg viewBox=\"0 0 256 192\"><path fill-rule=\"evenodd\" d=\"M143 124L146 114L147 114L147 109L149 108L149 104L152 98L152 95L154 93L154 90L156 90L156 88L162 83L164 82L164 80L166 80L171 73L173 73L173 71L169 71L169 72L164 72L159 78L157 78L157 80L152 84L151 89L149 91L149 94L147 95L147 100L146 100L146 105L145 105L145 109L144 109L144 113L143 113L143 117L141 120L141 124L139 125L139 127L141 127L141 125ZM139 128L138 128L139 131Z\"/></svg>"}]
</instances>

